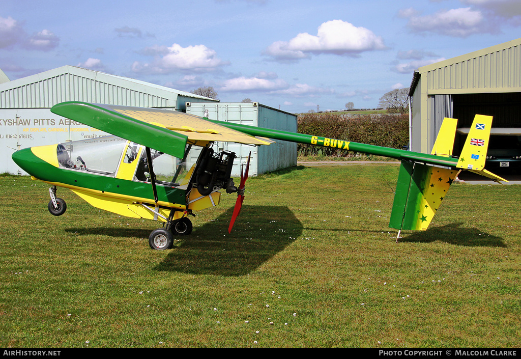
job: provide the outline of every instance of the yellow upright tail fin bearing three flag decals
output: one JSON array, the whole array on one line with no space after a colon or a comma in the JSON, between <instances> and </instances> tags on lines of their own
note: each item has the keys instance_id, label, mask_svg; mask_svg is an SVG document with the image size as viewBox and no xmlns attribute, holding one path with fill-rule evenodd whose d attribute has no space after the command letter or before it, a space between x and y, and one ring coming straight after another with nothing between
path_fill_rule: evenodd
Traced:
<instances>
[{"instance_id":1,"label":"yellow upright tail fin bearing three flag decals","mask_svg":"<svg viewBox=\"0 0 521 359\"><path fill-rule=\"evenodd\" d=\"M483 170L491 127L492 116L476 115L474 117L456 167L464 170Z\"/></svg>"}]
</instances>

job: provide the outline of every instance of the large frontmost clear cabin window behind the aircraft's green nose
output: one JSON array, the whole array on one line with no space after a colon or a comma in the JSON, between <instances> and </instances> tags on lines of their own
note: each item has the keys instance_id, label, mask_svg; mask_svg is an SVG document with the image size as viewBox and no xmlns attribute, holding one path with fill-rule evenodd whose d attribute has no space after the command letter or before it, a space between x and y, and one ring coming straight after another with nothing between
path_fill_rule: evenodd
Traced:
<instances>
[{"instance_id":1,"label":"large frontmost clear cabin window behind the aircraft's green nose","mask_svg":"<svg viewBox=\"0 0 521 359\"><path fill-rule=\"evenodd\" d=\"M58 163L71 170L114 176L126 142L116 136L106 136L59 143Z\"/></svg>"}]
</instances>

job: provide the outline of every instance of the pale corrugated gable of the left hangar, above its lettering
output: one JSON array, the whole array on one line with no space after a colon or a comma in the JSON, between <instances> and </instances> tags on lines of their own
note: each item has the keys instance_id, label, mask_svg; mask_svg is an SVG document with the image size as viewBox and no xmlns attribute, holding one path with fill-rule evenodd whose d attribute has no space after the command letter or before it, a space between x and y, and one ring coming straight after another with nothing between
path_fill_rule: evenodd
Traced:
<instances>
[{"instance_id":1,"label":"pale corrugated gable of the left hangar, above its lettering","mask_svg":"<svg viewBox=\"0 0 521 359\"><path fill-rule=\"evenodd\" d=\"M0 83L0 108L50 108L65 101L176 108L177 97L218 101L127 77L63 66Z\"/></svg>"}]
</instances>

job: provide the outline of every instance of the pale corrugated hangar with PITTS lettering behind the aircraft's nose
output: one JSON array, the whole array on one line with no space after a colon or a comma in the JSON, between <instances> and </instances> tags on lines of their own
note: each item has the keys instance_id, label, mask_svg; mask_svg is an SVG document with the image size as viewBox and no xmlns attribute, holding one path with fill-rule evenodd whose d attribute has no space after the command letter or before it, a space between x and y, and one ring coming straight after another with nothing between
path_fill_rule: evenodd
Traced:
<instances>
[{"instance_id":1,"label":"pale corrugated hangar with PITTS lettering behind the aircraft's nose","mask_svg":"<svg viewBox=\"0 0 521 359\"><path fill-rule=\"evenodd\" d=\"M63 66L9 81L0 76L0 173L22 174L15 150L106 136L59 117L51 107L65 101L185 110L187 101L219 102L193 93L75 66Z\"/></svg>"}]
</instances>

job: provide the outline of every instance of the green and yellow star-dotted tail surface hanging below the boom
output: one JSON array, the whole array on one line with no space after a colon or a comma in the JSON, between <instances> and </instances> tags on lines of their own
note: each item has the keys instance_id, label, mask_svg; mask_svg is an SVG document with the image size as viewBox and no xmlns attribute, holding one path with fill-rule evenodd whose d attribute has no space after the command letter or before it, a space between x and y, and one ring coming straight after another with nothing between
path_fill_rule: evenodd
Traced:
<instances>
[{"instance_id":1,"label":"green and yellow star-dotted tail surface hanging below the boom","mask_svg":"<svg viewBox=\"0 0 521 359\"><path fill-rule=\"evenodd\" d=\"M425 231L459 172L402 161L389 226Z\"/></svg>"}]
</instances>

